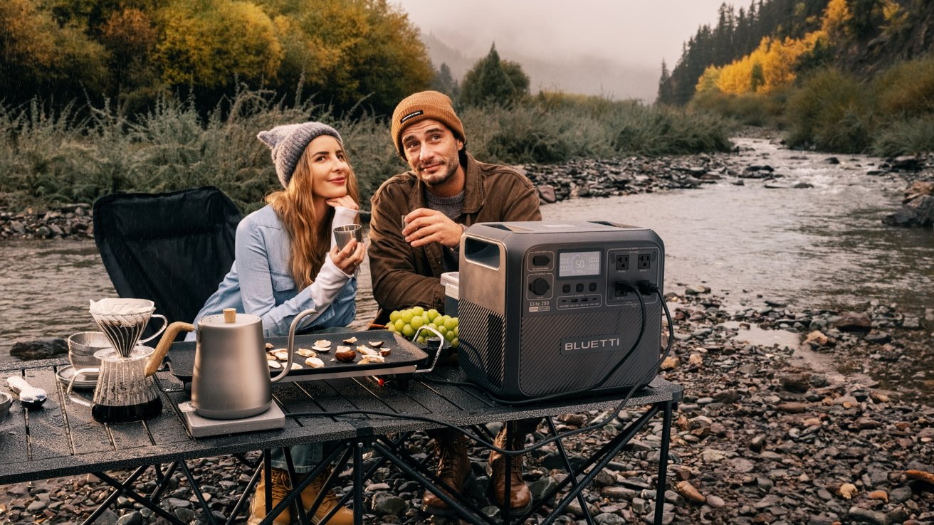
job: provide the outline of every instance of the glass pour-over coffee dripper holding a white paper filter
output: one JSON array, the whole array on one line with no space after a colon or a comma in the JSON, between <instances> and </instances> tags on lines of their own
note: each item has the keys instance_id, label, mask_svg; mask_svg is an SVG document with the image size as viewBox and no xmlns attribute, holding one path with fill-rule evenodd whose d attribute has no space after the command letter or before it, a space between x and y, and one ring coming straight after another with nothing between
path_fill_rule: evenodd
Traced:
<instances>
[{"instance_id":1,"label":"glass pour-over coffee dripper holding a white paper filter","mask_svg":"<svg viewBox=\"0 0 934 525\"><path fill-rule=\"evenodd\" d=\"M153 314L155 304L148 299L101 299L91 302L91 315L94 322L106 335L107 341L121 356L129 357L130 353L139 343L146 343L150 339L163 333L168 319L159 314ZM163 319L163 326L156 333L140 341L140 336L149 319Z\"/></svg>"}]
</instances>

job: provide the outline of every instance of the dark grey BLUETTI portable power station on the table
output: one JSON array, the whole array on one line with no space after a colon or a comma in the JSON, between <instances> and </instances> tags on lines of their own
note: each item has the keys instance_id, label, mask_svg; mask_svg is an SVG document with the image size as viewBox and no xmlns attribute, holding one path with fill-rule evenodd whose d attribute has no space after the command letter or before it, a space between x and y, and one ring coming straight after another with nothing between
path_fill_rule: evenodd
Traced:
<instances>
[{"instance_id":1,"label":"dark grey BLUETTI portable power station on the table","mask_svg":"<svg viewBox=\"0 0 934 525\"><path fill-rule=\"evenodd\" d=\"M655 375L665 248L650 229L606 221L481 222L460 240L458 361L471 381L520 400ZM642 281L642 282L641 282ZM629 286L626 286L629 284Z\"/></svg>"}]
</instances>

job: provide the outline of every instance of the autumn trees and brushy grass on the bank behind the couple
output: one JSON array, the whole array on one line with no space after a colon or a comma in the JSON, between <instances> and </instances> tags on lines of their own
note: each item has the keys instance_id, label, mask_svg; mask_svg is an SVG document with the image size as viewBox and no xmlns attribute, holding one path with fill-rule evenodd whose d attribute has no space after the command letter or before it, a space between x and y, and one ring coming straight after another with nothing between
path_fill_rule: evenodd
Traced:
<instances>
[{"instance_id":1,"label":"autumn trees and brushy grass on the bank behind the couple","mask_svg":"<svg viewBox=\"0 0 934 525\"><path fill-rule=\"evenodd\" d=\"M0 50L0 209L13 212L205 184L249 211L277 185L256 134L307 120L344 136L366 200L406 168L389 114L425 89L451 95L487 162L731 147L717 116L531 93L495 46L458 82L387 0L7 0Z\"/></svg>"}]
</instances>

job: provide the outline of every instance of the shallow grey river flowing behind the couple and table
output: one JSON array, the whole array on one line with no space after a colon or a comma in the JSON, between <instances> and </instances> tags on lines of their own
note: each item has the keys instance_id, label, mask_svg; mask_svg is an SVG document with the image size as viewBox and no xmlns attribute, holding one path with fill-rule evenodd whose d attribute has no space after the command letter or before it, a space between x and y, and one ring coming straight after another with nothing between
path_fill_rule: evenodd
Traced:
<instances>
[{"instance_id":1,"label":"shallow grey river flowing behind the couple and table","mask_svg":"<svg viewBox=\"0 0 934 525\"><path fill-rule=\"evenodd\" d=\"M573 199L545 205L545 220L613 220L655 230L665 243L665 290L706 284L726 306L859 309L872 299L924 316L934 305L934 234L884 226L905 183L868 176L882 161L790 151L738 138L731 163L767 163L783 177L768 189L727 177L698 190ZM813 188L792 189L798 182ZM369 267L361 268L358 318L375 315ZM0 362L16 341L94 330L88 300L112 296L90 240L5 242L0 250ZM760 296L760 297L757 297Z\"/></svg>"}]
</instances>

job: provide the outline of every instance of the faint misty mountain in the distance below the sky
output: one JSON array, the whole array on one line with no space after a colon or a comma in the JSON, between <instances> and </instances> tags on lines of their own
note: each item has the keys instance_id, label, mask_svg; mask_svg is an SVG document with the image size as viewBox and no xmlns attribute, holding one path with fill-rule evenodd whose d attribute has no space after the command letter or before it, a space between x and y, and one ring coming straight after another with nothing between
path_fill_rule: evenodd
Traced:
<instances>
[{"instance_id":1,"label":"faint misty mountain in the distance below the sky","mask_svg":"<svg viewBox=\"0 0 934 525\"><path fill-rule=\"evenodd\" d=\"M433 33L422 34L429 57L435 68L447 64L451 75L458 81L482 56L466 56L447 45ZM573 61L552 62L528 55L500 51L500 58L516 62L531 79L531 91L560 91L603 95L616 100L639 98L644 102L655 99L658 91L658 71L653 67L624 66L610 60L580 56Z\"/></svg>"}]
</instances>

